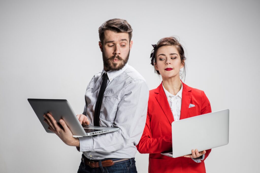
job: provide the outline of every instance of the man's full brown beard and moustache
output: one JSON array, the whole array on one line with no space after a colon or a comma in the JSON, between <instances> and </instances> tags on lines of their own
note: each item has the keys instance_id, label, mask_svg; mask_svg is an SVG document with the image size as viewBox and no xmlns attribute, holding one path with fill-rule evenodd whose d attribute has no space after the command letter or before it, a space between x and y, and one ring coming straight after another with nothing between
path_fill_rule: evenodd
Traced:
<instances>
[{"instance_id":1,"label":"man's full brown beard and moustache","mask_svg":"<svg viewBox=\"0 0 260 173\"><path fill-rule=\"evenodd\" d=\"M107 68L108 71L118 71L121 70L127 63L128 59L129 59L129 54L130 54L130 50L128 52L128 55L126 56L126 59L122 59L119 55L114 55L113 57L105 57L104 53L102 52L102 58L103 58L103 64L104 67ZM113 60L117 58L119 61L118 63L114 63Z\"/></svg>"}]
</instances>

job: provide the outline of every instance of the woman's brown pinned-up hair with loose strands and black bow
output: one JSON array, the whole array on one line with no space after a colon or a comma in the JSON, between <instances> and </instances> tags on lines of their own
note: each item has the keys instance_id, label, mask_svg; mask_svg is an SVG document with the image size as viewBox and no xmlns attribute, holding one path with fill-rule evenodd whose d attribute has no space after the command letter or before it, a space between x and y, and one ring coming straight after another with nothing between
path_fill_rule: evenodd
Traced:
<instances>
[{"instance_id":1,"label":"woman's brown pinned-up hair with loose strands and black bow","mask_svg":"<svg viewBox=\"0 0 260 173\"><path fill-rule=\"evenodd\" d=\"M180 54L181 63L183 63L183 65L184 65L184 67L183 67L184 71L180 75L182 76L184 74L184 76L185 76L185 73L186 73L185 60L186 60L186 57L184 55L184 49L183 49L183 46L179 43L178 39L175 38L175 37L162 38L157 42L156 46L153 45L154 49L152 50L152 53L151 53L151 58L152 58L151 64L154 66L154 63L157 63L156 53L157 53L157 50L162 46L175 46L176 47L176 49L178 50L178 52ZM155 67L154 67L154 72L160 75L160 72L158 70L156 70Z\"/></svg>"}]
</instances>

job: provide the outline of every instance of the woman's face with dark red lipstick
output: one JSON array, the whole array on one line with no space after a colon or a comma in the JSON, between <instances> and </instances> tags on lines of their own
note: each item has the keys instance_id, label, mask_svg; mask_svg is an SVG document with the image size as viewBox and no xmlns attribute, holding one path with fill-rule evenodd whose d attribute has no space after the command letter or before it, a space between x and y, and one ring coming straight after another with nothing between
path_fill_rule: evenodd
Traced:
<instances>
[{"instance_id":1,"label":"woman's face with dark red lipstick","mask_svg":"<svg viewBox=\"0 0 260 173\"><path fill-rule=\"evenodd\" d=\"M163 78L179 78L181 63L180 55L175 46L162 46L156 53L155 69L160 72Z\"/></svg>"}]
</instances>

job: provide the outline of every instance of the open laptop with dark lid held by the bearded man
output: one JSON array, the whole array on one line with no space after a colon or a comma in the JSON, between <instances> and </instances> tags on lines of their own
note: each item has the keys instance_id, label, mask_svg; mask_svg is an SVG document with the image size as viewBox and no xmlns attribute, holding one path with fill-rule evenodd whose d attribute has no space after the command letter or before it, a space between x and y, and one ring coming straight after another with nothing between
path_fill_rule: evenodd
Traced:
<instances>
[{"instance_id":1,"label":"open laptop with dark lid held by the bearded man","mask_svg":"<svg viewBox=\"0 0 260 173\"><path fill-rule=\"evenodd\" d=\"M76 136L92 136L119 130L118 127L100 127L100 126L82 126L77 119L76 114L71 108L67 100L56 99L27 99L33 108L42 126L48 133L53 133L48 130L48 125L43 121L44 114L51 113L54 119L59 123L63 119L73 135ZM60 125L61 126L61 125Z\"/></svg>"}]
</instances>

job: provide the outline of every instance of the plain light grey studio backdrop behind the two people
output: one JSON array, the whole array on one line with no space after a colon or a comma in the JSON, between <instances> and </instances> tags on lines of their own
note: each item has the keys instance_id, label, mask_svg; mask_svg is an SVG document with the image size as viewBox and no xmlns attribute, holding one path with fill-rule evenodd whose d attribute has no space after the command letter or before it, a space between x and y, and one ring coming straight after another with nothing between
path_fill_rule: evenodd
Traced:
<instances>
[{"instance_id":1,"label":"plain light grey studio backdrop behind the two people","mask_svg":"<svg viewBox=\"0 0 260 173\"><path fill-rule=\"evenodd\" d=\"M212 111L230 109L229 144L213 149L207 172L259 170L259 1L0 1L0 172L76 172L81 153L47 134L27 98L67 99L83 112L84 93L102 70L98 27L133 27L129 65L154 74L151 44L178 36L185 83L205 91ZM194 124L201 126L203 124ZM139 172L148 154L136 154Z\"/></svg>"}]
</instances>

